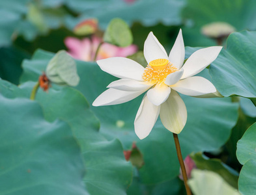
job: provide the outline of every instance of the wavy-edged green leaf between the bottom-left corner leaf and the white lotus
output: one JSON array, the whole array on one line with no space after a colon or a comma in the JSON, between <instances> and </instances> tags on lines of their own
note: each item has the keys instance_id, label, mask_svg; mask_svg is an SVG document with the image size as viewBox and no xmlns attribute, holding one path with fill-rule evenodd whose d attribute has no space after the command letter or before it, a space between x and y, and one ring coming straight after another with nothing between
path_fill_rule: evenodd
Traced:
<instances>
[{"instance_id":1,"label":"wavy-edged green leaf between the bottom-left corner leaf and the white lotus","mask_svg":"<svg viewBox=\"0 0 256 195\"><path fill-rule=\"evenodd\" d=\"M21 88L31 91L35 83L23 83ZM132 181L132 165L126 162L119 140L106 140L98 129L100 123L92 114L84 96L74 88L38 90L36 94L48 121L56 118L68 122L78 139L87 173L84 177L90 194L126 194Z\"/></svg>"}]
</instances>

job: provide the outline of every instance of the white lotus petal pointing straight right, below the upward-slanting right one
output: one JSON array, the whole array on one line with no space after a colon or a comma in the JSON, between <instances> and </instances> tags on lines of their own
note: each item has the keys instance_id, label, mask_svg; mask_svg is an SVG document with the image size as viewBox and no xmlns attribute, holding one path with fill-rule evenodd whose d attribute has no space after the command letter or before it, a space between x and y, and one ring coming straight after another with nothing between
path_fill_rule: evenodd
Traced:
<instances>
[{"instance_id":1,"label":"white lotus petal pointing straight right, below the upward-slanting right one","mask_svg":"<svg viewBox=\"0 0 256 195\"><path fill-rule=\"evenodd\" d=\"M201 96L216 92L215 86L203 77L189 77L180 80L171 88L187 96Z\"/></svg>"}]
</instances>

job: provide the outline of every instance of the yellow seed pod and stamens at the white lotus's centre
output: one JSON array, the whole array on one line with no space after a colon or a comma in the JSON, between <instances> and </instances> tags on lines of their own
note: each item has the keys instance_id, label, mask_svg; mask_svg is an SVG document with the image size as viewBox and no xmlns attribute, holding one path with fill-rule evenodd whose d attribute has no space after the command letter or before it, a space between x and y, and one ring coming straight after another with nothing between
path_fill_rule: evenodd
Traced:
<instances>
[{"instance_id":1,"label":"yellow seed pod and stamens at the white lotus's centre","mask_svg":"<svg viewBox=\"0 0 256 195\"><path fill-rule=\"evenodd\" d=\"M167 75L177 72L178 69L173 66L167 59L156 59L149 62L142 75L143 81L150 82L154 85L156 83L164 83Z\"/></svg>"}]
</instances>

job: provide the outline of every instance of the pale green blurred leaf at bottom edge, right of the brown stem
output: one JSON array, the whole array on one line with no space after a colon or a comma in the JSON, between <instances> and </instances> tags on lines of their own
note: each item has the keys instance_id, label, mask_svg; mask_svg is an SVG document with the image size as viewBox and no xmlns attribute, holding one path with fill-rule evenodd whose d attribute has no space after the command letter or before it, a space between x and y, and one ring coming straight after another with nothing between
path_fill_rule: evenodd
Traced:
<instances>
[{"instance_id":1,"label":"pale green blurred leaf at bottom edge, right of the brown stem","mask_svg":"<svg viewBox=\"0 0 256 195\"><path fill-rule=\"evenodd\" d=\"M188 180L188 184L196 195L240 195L220 175L208 170L192 170L192 179Z\"/></svg>"}]
</instances>

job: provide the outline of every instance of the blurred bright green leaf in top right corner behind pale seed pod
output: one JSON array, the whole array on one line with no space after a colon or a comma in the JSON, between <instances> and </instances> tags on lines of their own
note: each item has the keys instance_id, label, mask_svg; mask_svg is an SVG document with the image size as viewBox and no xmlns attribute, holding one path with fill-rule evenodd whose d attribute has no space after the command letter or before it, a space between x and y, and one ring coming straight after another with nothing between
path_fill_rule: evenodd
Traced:
<instances>
[{"instance_id":1,"label":"blurred bright green leaf in top right corner behind pale seed pod","mask_svg":"<svg viewBox=\"0 0 256 195\"><path fill-rule=\"evenodd\" d=\"M236 31L255 31L256 22L252 19L256 17L255 6L253 0L188 0L182 10L182 18L187 21L182 29L185 44L193 47L216 45L217 42L201 32L204 25L212 22L225 22Z\"/></svg>"}]
</instances>

